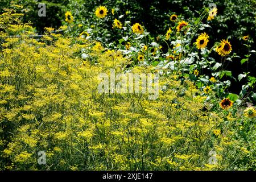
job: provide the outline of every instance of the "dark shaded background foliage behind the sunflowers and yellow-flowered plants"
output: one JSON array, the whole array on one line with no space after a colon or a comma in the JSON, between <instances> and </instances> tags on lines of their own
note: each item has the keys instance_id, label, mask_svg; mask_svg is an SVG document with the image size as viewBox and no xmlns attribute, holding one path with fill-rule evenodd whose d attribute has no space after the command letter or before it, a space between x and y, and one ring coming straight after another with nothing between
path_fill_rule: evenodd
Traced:
<instances>
[{"instance_id":1,"label":"dark shaded background foliage behind the sunflowers and yellow-flowered plants","mask_svg":"<svg viewBox=\"0 0 256 182\"><path fill-rule=\"evenodd\" d=\"M30 10L24 16L24 20L31 21L39 34L43 34L44 27L58 28L65 23L64 14L67 10L72 11L75 26L81 23L89 27L93 23L91 20L95 8L104 5L108 7L109 15L111 15L111 9L118 9L118 15L130 11L130 15L126 18L131 20L131 23L142 23L154 37L165 34L170 24L171 14L177 14L187 21L193 20L199 16L196 11L200 11L202 7L208 7L210 3L215 3L218 9L217 17L210 22L212 28L206 30L210 35L210 46L213 46L214 42L228 38L232 43L233 52L236 52L241 58L234 58L232 63L228 63L226 69L232 71L235 78L243 72L250 72L251 76L255 76L255 53L250 57L249 64L241 65L240 61L248 53L246 46L243 45L245 41L242 40L242 36L250 35L250 49L255 50L256 0L15 0L14 2ZM46 17L38 16L39 2L46 3ZM10 1L2 0L0 6L2 13L4 7L10 6ZM101 34L107 38L106 42L118 42L120 39L112 30L113 19L114 17L106 19L104 28L108 31ZM218 61L217 55L213 57ZM230 91L233 93L240 92L241 85L246 82L245 79L241 82L231 81Z\"/></svg>"}]
</instances>

